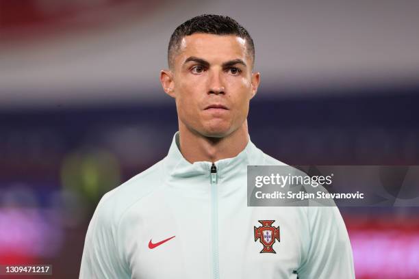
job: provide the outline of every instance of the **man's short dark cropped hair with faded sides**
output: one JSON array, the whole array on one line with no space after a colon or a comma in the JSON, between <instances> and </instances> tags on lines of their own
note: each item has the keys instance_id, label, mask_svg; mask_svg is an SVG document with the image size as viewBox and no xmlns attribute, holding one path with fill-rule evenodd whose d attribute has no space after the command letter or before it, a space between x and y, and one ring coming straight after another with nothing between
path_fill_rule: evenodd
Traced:
<instances>
[{"instance_id":1,"label":"man's short dark cropped hair with faded sides","mask_svg":"<svg viewBox=\"0 0 419 279\"><path fill-rule=\"evenodd\" d=\"M236 35L246 40L249 55L252 58L252 67L255 62L255 45L249 32L242 27L237 21L229 16L220 16L217 14L203 14L195 16L188 21L179 25L172 36L167 51L167 59L169 68L173 68L173 57L175 51L179 49L183 37L190 36L194 33L214 34L214 35Z\"/></svg>"}]
</instances>

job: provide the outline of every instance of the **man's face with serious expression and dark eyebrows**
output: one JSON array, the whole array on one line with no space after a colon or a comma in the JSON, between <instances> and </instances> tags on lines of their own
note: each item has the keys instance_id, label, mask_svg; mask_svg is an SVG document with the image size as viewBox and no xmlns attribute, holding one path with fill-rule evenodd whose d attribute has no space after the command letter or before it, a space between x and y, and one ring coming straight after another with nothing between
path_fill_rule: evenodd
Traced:
<instances>
[{"instance_id":1,"label":"man's face with serious expression and dark eyebrows","mask_svg":"<svg viewBox=\"0 0 419 279\"><path fill-rule=\"evenodd\" d=\"M259 84L252 57L238 36L192 34L181 40L168 92L180 124L205 137L226 137L242 125Z\"/></svg>"}]
</instances>

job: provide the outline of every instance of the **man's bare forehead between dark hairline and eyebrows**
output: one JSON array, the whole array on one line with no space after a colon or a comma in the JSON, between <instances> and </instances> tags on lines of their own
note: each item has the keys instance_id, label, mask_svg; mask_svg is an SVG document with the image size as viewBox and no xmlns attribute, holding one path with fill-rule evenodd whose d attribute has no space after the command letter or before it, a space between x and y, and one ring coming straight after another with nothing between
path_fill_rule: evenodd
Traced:
<instances>
[{"instance_id":1,"label":"man's bare forehead between dark hairline and eyebrows","mask_svg":"<svg viewBox=\"0 0 419 279\"><path fill-rule=\"evenodd\" d=\"M196 56L203 59L249 59L246 40L234 35L192 34L182 38L177 61Z\"/></svg>"}]
</instances>

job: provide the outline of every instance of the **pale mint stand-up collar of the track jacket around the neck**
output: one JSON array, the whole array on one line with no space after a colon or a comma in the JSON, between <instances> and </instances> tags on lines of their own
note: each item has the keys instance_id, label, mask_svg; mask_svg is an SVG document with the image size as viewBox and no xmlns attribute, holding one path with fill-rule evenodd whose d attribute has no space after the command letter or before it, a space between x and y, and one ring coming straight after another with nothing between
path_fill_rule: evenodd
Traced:
<instances>
[{"instance_id":1,"label":"pale mint stand-up collar of the track jacket around the neck","mask_svg":"<svg viewBox=\"0 0 419 279\"><path fill-rule=\"evenodd\" d=\"M170 176L173 178L210 176L212 162L197 161L190 163L181 154L179 146L179 131L177 131L173 136L173 141L166 157L166 170ZM228 178L238 174L238 172L244 172L246 174L246 166L250 165L250 158L257 152L262 151L251 142L249 137L246 147L236 157L214 162L217 168L217 176L219 178Z\"/></svg>"}]
</instances>

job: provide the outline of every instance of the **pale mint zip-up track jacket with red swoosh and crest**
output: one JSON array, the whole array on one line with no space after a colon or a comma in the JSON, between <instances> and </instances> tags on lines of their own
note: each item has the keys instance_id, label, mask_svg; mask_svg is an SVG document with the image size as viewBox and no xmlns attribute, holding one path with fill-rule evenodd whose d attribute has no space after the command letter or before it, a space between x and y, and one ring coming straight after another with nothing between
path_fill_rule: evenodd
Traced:
<instances>
[{"instance_id":1,"label":"pale mint zip-up track jacket with red swoosh and crest","mask_svg":"<svg viewBox=\"0 0 419 279\"><path fill-rule=\"evenodd\" d=\"M338 208L247 207L247 165L284 163L250 139L236 157L189 163L176 133L162 161L103 196L79 278L355 278Z\"/></svg>"}]
</instances>

